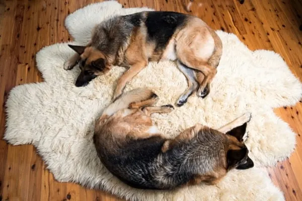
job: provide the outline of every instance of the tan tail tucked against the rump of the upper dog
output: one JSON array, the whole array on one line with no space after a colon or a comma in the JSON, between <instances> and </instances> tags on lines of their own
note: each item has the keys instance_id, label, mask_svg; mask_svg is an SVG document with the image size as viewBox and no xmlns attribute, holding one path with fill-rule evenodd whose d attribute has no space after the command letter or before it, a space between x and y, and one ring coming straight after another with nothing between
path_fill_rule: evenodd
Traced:
<instances>
[{"instance_id":1,"label":"tan tail tucked against the rump of the upper dog","mask_svg":"<svg viewBox=\"0 0 302 201\"><path fill-rule=\"evenodd\" d=\"M208 60L208 64L217 68L222 54L222 42L214 30L210 29L210 33L214 39L215 49L212 56Z\"/></svg>"}]
</instances>

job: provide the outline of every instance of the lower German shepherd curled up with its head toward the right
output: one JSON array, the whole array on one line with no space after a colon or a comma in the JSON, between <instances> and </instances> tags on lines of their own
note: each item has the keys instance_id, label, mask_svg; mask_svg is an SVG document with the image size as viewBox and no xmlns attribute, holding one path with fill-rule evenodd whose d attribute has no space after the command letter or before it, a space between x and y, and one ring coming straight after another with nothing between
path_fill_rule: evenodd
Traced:
<instances>
[{"instance_id":1,"label":"lower German shepherd curled up with its head toward the right","mask_svg":"<svg viewBox=\"0 0 302 201\"><path fill-rule=\"evenodd\" d=\"M197 124L168 139L150 115L174 108L152 106L157 99L149 89L134 89L119 96L96 121L98 156L121 181L135 188L172 189L202 181L215 184L231 169L254 166L243 141L250 113L218 130Z\"/></svg>"}]
</instances>

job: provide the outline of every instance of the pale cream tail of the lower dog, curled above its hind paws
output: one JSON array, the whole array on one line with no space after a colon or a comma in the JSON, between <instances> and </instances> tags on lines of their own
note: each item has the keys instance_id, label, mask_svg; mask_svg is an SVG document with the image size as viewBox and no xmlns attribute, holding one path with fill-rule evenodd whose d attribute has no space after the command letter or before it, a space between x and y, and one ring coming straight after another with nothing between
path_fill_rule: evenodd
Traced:
<instances>
[{"instance_id":1,"label":"pale cream tail of the lower dog, curled above its hind paws","mask_svg":"<svg viewBox=\"0 0 302 201\"><path fill-rule=\"evenodd\" d=\"M123 93L120 97L114 100L107 109L103 112L102 116L112 116L117 111L128 108L130 103L140 102L142 100L149 99L151 97L157 96L152 90L148 88L136 88L131 91Z\"/></svg>"}]
</instances>

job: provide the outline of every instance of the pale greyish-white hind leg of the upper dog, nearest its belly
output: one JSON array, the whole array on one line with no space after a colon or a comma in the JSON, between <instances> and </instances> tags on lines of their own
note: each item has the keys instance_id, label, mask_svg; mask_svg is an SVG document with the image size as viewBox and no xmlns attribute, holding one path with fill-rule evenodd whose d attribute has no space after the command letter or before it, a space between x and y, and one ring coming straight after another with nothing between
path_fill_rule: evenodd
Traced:
<instances>
[{"instance_id":1,"label":"pale greyish-white hind leg of the upper dog, nearest its belly","mask_svg":"<svg viewBox=\"0 0 302 201\"><path fill-rule=\"evenodd\" d=\"M195 80L195 73L193 69L188 68L179 60L176 62L176 64L178 69L186 76L188 81L188 88L185 90L185 92L183 92L176 102L176 105L181 107L187 102L188 97L197 89L198 83Z\"/></svg>"}]
</instances>

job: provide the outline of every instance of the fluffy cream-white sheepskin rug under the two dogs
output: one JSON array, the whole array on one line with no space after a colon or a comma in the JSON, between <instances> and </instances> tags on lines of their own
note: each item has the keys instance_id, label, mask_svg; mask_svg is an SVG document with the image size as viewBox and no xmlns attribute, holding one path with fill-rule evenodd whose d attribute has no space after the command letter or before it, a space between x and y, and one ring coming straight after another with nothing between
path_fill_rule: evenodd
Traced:
<instances>
[{"instance_id":1,"label":"fluffy cream-white sheepskin rug under the two dogs","mask_svg":"<svg viewBox=\"0 0 302 201\"><path fill-rule=\"evenodd\" d=\"M123 9L115 1L89 5L70 14L66 28L72 44L85 45L94 25L115 15L150 10ZM217 185L196 185L172 191L131 188L115 178L100 162L93 145L94 121L108 106L117 78L124 71L114 67L86 87L75 87L79 67L63 70L73 51L66 43L54 44L37 53L42 83L16 86L7 100L4 139L13 145L32 144L61 182L77 182L100 188L130 200L284 200L264 166L290 156L295 134L273 108L294 105L302 85L282 58L266 50L250 51L234 34L217 32L223 53L210 94L192 95L188 103L153 119L167 136L201 123L218 128L243 113L252 113L246 144L255 167L232 170ZM158 105L175 104L186 89L184 75L173 62L150 63L127 84L125 90L149 87L159 95Z\"/></svg>"}]
</instances>

